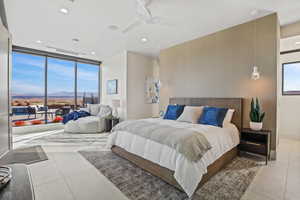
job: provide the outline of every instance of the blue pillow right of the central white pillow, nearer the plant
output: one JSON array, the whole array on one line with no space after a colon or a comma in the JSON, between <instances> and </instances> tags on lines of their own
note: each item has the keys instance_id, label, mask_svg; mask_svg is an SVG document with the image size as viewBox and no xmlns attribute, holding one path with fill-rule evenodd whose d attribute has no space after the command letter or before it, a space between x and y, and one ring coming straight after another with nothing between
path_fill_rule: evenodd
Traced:
<instances>
[{"instance_id":1,"label":"blue pillow right of the central white pillow, nearer the plant","mask_svg":"<svg viewBox=\"0 0 300 200\"><path fill-rule=\"evenodd\" d=\"M223 127L223 121L228 108L204 107L199 124Z\"/></svg>"}]
</instances>

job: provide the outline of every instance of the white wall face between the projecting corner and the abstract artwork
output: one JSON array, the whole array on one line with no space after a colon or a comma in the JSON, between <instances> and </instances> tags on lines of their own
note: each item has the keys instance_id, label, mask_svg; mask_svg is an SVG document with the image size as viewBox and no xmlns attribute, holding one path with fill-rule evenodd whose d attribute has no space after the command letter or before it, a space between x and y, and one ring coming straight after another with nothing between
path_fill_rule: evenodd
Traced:
<instances>
[{"instance_id":1,"label":"white wall face between the projecting corner and the abstract artwork","mask_svg":"<svg viewBox=\"0 0 300 200\"><path fill-rule=\"evenodd\" d=\"M138 53L127 54L127 117L128 119L149 118L153 104L145 100L146 78L154 76L153 58Z\"/></svg>"}]
</instances>

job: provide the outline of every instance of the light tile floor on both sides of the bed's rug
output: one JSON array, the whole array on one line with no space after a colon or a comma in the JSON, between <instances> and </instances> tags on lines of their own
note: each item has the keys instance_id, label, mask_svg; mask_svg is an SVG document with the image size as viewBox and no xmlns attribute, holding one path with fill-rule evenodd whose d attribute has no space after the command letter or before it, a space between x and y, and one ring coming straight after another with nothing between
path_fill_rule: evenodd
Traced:
<instances>
[{"instance_id":1,"label":"light tile floor on both sides of the bed's rug","mask_svg":"<svg viewBox=\"0 0 300 200\"><path fill-rule=\"evenodd\" d=\"M127 199L78 150L91 147L44 146L49 160L29 166L36 200ZM92 150L92 149L91 149ZM300 141L281 139L278 160L258 172L243 200L300 199Z\"/></svg>"}]
</instances>

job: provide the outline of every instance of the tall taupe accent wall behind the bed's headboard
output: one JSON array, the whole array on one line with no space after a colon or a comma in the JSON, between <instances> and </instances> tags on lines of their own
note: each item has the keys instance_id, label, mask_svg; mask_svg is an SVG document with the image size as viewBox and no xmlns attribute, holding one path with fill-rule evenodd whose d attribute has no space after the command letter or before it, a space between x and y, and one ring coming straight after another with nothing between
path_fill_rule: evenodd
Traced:
<instances>
[{"instance_id":1,"label":"tall taupe accent wall behind the bed's headboard","mask_svg":"<svg viewBox=\"0 0 300 200\"><path fill-rule=\"evenodd\" d=\"M249 127L251 97L266 111L264 128L272 130L276 150L277 14L164 49L160 53L161 102L170 97L242 97L243 127ZM261 79L251 79L257 65Z\"/></svg>"}]
</instances>

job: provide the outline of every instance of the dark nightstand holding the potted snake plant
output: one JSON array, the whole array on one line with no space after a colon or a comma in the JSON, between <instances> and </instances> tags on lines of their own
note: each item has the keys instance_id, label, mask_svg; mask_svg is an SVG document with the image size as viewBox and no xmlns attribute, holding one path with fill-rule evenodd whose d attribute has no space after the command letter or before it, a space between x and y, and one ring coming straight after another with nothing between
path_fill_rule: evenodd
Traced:
<instances>
[{"instance_id":1,"label":"dark nightstand holding the potted snake plant","mask_svg":"<svg viewBox=\"0 0 300 200\"><path fill-rule=\"evenodd\" d=\"M241 143L239 150L259 154L266 157L266 165L270 156L271 131L243 129L241 132Z\"/></svg>"}]
</instances>

